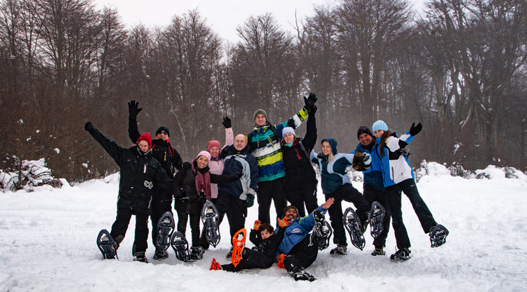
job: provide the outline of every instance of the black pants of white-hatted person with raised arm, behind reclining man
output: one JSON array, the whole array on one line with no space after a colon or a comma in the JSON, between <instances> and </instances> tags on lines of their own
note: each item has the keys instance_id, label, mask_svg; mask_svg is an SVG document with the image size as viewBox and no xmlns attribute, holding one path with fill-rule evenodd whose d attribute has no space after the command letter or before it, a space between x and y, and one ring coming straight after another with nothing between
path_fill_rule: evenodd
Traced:
<instances>
[{"instance_id":1,"label":"black pants of white-hatted person with raised arm, behind reclining man","mask_svg":"<svg viewBox=\"0 0 527 292\"><path fill-rule=\"evenodd\" d=\"M299 209L299 217L304 217L306 214L311 214L311 212L319 207L317 202L317 184L318 182L316 180L299 185L290 186L285 184L285 198L289 201L289 203L291 203L291 205L294 205ZM307 213L304 209L304 204L306 205L306 209L308 209ZM281 215L282 212L278 214L278 216Z\"/></svg>"}]
</instances>

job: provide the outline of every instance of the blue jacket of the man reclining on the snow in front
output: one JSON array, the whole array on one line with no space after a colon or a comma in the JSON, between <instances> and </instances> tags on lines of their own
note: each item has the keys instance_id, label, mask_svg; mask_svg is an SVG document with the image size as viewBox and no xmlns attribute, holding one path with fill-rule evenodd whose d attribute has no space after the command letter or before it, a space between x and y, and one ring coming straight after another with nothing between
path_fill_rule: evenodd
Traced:
<instances>
[{"instance_id":1,"label":"blue jacket of the man reclining on the snow in front","mask_svg":"<svg viewBox=\"0 0 527 292\"><path fill-rule=\"evenodd\" d=\"M320 205L317 210L320 210L324 214L326 214L327 211L322 209L322 205ZM285 234L280 246L278 247L276 255L289 254L296 243L299 243L302 241L302 239L305 239L309 235L309 232L311 232L313 226L315 226L315 218L313 218L312 212L308 216L294 218L292 221L290 221L289 225L285 227ZM276 228L274 233L278 234L279 230L280 228Z\"/></svg>"}]
</instances>

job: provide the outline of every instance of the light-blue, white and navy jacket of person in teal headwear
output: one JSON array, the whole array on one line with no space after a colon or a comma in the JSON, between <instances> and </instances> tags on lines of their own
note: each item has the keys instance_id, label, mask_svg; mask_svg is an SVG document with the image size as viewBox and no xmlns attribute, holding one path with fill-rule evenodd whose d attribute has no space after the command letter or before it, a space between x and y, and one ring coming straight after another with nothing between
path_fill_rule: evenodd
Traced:
<instances>
[{"instance_id":1,"label":"light-blue, white and navy jacket of person in teal headwear","mask_svg":"<svg viewBox=\"0 0 527 292\"><path fill-rule=\"evenodd\" d=\"M351 184L348 173L346 173L346 168L353 161L353 155L337 153L337 141L333 138L326 138L321 142L324 141L328 142L331 146L333 160L328 162L325 159L320 159L315 151L311 151L309 159L311 162L319 164L322 192L327 195L342 187L342 184Z\"/></svg>"}]
</instances>

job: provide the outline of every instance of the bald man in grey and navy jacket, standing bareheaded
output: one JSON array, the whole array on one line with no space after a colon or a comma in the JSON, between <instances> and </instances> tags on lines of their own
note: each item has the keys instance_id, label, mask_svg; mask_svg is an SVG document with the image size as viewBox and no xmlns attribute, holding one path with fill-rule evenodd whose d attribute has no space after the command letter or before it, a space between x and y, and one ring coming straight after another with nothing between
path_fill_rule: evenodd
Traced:
<instances>
[{"instance_id":1,"label":"bald man in grey and navy jacket, standing bareheaded","mask_svg":"<svg viewBox=\"0 0 527 292\"><path fill-rule=\"evenodd\" d=\"M219 212L219 223L221 224L225 212L230 209L232 239L234 234L245 226L245 208L252 207L254 204L256 191L258 191L258 162L251 155L251 148L247 146L246 137L242 134L234 138L233 145L226 146L221 151L221 157L224 158L224 171L221 174L244 174L240 180L235 182L218 184L216 207ZM231 244L232 242L231 240Z\"/></svg>"}]
</instances>

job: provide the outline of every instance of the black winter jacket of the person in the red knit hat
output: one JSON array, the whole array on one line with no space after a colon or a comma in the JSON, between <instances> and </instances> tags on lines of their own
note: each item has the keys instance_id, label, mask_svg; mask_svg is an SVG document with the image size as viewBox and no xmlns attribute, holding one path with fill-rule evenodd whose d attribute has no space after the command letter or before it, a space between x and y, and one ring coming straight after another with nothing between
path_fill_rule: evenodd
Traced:
<instances>
[{"instance_id":1,"label":"black winter jacket of the person in the red knit hat","mask_svg":"<svg viewBox=\"0 0 527 292\"><path fill-rule=\"evenodd\" d=\"M102 135L90 122L86 123L85 130L103 146L121 169L117 208L130 208L135 212L150 214L153 186L165 190L172 186L172 180L152 157L152 152L142 153L137 146L122 148Z\"/></svg>"}]
</instances>

